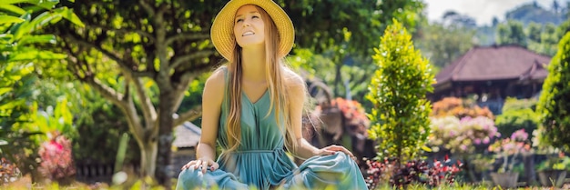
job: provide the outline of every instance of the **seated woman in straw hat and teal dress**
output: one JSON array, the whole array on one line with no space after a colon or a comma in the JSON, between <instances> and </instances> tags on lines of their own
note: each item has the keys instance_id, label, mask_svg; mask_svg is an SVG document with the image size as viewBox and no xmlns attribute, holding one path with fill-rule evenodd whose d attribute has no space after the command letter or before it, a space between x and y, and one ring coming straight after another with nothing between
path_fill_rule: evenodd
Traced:
<instances>
[{"instance_id":1,"label":"seated woman in straw hat and teal dress","mask_svg":"<svg viewBox=\"0 0 570 190\"><path fill-rule=\"evenodd\" d=\"M353 155L301 136L306 87L283 65L293 45L288 15L271 0L231 0L214 19L212 43L229 61L207 80L197 160L177 189L275 187L366 189ZM222 148L218 160L216 143ZM285 154L309 158L299 167Z\"/></svg>"}]
</instances>

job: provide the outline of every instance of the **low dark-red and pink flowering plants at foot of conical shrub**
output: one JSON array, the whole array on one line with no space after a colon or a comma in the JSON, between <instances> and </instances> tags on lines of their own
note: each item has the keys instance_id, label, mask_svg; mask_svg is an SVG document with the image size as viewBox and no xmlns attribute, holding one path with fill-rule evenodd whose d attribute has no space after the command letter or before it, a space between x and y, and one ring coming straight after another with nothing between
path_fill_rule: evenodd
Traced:
<instances>
[{"instance_id":1,"label":"low dark-red and pink flowering plants at foot of conical shrub","mask_svg":"<svg viewBox=\"0 0 570 190\"><path fill-rule=\"evenodd\" d=\"M461 171L463 164L460 161L452 164L446 155L443 162L433 160L431 164L424 160L411 160L405 166L400 166L394 160L384 159L382 162L367 160L366 165L366 185L369 189L376 189L382 184L398 188L409 185L427 185L431 188L453 185L455 175Z\"/></svg>"}]
</instances>

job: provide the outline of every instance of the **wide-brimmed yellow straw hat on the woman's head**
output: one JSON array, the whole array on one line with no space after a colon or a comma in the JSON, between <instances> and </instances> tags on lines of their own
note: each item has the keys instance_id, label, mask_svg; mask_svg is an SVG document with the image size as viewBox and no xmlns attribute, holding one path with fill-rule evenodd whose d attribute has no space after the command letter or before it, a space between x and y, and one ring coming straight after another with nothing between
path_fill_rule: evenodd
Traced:
<instances>
[{"instance_id":1,"label":"wide-brimmed yellow straw hat on the woman's head","mask_svg":"<svg viewBox=\"0 0 570 190\"><path fill-rule=\"evenodd\" d=\"M236 45L236 39L233 35L234 18L242 5L258 5L270 15L271 20L277 25L280 35L280 45L277 54L279 57L288 55L293 47L295 38L293 23L280 5L275 4L272 0L230 0L219 11L210 32L212 43L219 54L228 60L233 59L232 54Z\"/></svg>"}]
</instances>

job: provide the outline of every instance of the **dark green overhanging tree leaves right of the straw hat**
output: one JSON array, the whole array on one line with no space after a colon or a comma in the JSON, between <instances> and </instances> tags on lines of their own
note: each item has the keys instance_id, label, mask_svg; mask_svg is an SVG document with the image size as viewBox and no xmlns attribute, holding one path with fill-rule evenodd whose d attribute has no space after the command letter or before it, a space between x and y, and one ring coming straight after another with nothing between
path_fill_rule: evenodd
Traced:
<instances>
[{"instance_id":1,"label":"dark green overhanging tree leaves right of the straw hat","mask_svg":"<svg viewBox=\"0 0 570 190\"><path fill-rule=\"evenodd\" d=\"M285 12L298 28L295 38L300 47L321 53L339 45L336 48L355 55L370 55L370 48L379 43L377 37L392 24L392 18L413 28L424 6L417 0L277 2L284 5ZM353 22L355 20L360 22ZM350 35L352 33L359 35Z\"/></svg>"}]
</instances>

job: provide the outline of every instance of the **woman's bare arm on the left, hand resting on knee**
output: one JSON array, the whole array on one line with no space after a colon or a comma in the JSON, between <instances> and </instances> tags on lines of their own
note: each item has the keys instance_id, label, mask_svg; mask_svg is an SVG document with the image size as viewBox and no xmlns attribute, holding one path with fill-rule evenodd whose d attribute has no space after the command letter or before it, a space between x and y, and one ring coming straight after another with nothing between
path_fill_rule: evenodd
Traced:
<instances>
[{"instance_id":1,"label":"woman's bare arm on the left, hand resting on knee","mask_svg":"<svg viewBox=\"0 0 570 190\"><path fill-rule=\"evenodd\" d=\"M212 74L204 85L202 95L202 135L196 149L195 161L190 161L182 169L194 166L198 169L202 166L202 172L206 173L208 166L215 170L219 165L214 162L216 157L216 139L218 136L219 114L224 95L225 78L223 70L219 69Z\"/></svg>"}]
</instances>

